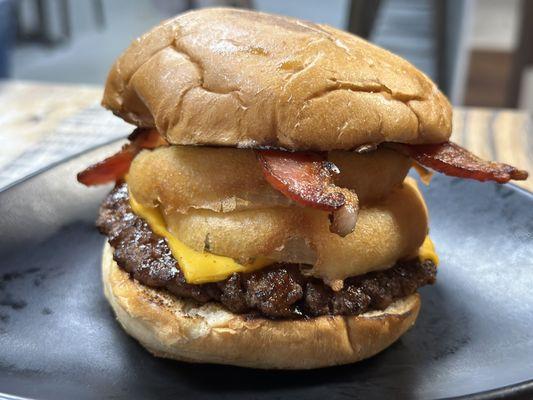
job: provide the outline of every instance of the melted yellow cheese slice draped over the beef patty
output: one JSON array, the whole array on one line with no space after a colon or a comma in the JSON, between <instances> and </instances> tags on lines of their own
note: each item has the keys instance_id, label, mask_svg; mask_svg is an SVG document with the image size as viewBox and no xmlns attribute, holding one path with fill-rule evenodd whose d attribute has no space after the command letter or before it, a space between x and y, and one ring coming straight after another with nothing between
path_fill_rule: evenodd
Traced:
<instances>
[{"instance_id":1,"label":"melted yellow cheese slice draped over the beef patty","mask_svg":"<svg viewBox=\"0 0 533 400\"><path fill-rule=\"evenodd\" d=\"M168 247L178 261L187 283L218 282L235 272L251 272L272 264L271 260L264 257L257 258L251 264L239 264L230 257L196 251L168 231L165 220L157 208L143 206L133 198L131 193L129 197L133 212L144 219L154 233L167 240ZM435 246L429 236L426 236L424 243L420 246L418 258L420 261L429 259L435 265L438 264Z\"/></svg>"}]
</instances>

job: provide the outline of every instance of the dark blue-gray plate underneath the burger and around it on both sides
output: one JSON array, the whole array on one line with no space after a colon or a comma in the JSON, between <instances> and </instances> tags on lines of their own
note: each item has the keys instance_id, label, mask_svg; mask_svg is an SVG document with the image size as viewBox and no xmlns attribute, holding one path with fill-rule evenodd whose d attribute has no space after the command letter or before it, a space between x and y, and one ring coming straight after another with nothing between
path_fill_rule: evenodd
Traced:
<instances>
[{"instance_id":1,"label":"dark blue-gray plate underneath the burger and around it on both sides","mask_svg":"<svg viewBox=\"0 0 533 400\"><path fill-rule=\"evenodd\" d=\"M75 173L116 147L0 193L0 392L78 400L533 398L531 194L442 176L424 188L442 260L438 283L421 290L417 325L382 354L301 372L191 365L149 355L102 295L104 238L93 221L109 188L87 189Z\"/></svg>"}]
</instances>

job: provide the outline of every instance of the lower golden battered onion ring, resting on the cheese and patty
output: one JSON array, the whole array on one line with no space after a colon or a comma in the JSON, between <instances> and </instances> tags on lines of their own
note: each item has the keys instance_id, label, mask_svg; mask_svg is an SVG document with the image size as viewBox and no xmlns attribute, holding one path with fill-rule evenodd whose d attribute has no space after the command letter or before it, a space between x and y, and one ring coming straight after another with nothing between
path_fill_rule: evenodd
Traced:
<instances>
[{"instance_id":1,"label":"lower golden battered onion ring, resting on the cheese and patty","mask_svg":"<svg viewBox=\"0 0 533 400\"><path fill-rule=\"evenodd\" d=\"M359 213L355 231L329 231L328 212L274 207L231 213L167 213L169 230L196 250L248 262L258 256L314 265L328 281L385 269L416 253L427 234L427 210L411 178L386 200Z\"/></svg>"}]
</instances>

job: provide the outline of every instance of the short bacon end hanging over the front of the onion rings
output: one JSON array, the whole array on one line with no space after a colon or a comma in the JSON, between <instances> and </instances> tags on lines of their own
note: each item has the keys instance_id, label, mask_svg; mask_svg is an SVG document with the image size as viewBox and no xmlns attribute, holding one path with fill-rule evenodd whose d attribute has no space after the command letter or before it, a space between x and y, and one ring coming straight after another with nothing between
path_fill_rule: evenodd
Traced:
<instances>
[{"instance_id":1,"label":"short bacon end hanging over the front of the onion rings","mask_svg":"<svg viewBox=\"0 0 533 400\"><path fill-rule=\"evenodd\" d=\"M353 232L359 201L348 189L335 186L338 168L319 153L256 150L265 179L289 199L306 207L330 211L330 230L340 236Z\"/></svg>"}]
</instances>

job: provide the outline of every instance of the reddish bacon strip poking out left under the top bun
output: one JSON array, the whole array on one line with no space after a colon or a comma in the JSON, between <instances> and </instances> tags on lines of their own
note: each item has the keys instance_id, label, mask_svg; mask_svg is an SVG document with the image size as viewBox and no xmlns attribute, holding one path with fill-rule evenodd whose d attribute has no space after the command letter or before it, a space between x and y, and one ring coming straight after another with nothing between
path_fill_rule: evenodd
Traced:
<instances>
[{"instance_id":1,"label":"reddish bacon strip poking out left under the top bun","mask_svg":"<svg viewBox=\"0 0 533 400\"><path fill-rule=\"evenodd\" d=\"M118 181L126 175L131 162L142 149L153 149L168 144L156 129L137 128L128 136L128 140L130 143L122 146L118 153L78 173L78 182L86 186L95 186Z\"/></svg>"}]
</instances>

